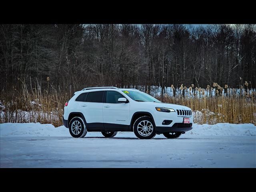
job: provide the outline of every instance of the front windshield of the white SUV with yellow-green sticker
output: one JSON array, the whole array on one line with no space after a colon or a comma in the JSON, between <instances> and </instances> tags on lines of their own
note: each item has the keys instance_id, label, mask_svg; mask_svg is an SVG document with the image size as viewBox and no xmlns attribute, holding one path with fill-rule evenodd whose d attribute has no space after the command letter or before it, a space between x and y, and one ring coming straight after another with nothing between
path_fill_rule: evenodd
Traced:
<instances>
[{"instance_id":1,"label":"front windshield of the white SUV with yellow-green sticker","mask_svg":"<svg viewBox=\"0 0 256 192\"><path fill-rule=\"evenodd\" d=\"M154 97L152 97L149 94L146 94L144 92L140 92L140 91L122 91L122 92L124 92L127 96L129 96L131 99L133 99L135 101L161 103L156 98L154 98Z\"/></svg>"}]
</instances>

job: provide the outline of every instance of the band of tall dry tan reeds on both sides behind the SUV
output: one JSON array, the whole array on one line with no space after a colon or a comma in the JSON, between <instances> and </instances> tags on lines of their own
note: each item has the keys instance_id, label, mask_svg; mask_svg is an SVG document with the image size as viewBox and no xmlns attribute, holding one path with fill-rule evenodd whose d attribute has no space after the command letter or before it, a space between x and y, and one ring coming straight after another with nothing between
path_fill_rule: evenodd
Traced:
<instances>
[{"instance_id":1,"label":"band of tall dry tan reeds on both sides behind the SUV","mask_svg":"<svg viewBox=\"0 0 256 192\"><path fill-rule=\"evenodd\" d=\"M26 84L25 80L19 80L22 84L22 90L18 91L13 88L12 94L1 95L0 98L0 123L4 122L40 122L42 124L53 124L54 126L62 125L63 108L73 93L63 93L60 88L54 88L49 84L47 90L41 90L37 82L35 87L32 83ZM217 87L214 83L214 85ZM181 86L182 90L192 90L194 86L186 88ZM225 86L227 88L227 85ZM228 123L252 123L256 125L256 102L255 93L244 96L229 94L228 96L205 97L208 86L205 90L200 91L199 97L191 97L186 93L185 96L178 95L170 97L167 94L159 97L166 103L180 104L190 107L194 113L194 123L198 124L216 124L219 122ZM231 92L232 89L230 89ZM212 90L214 91L214 90ZM205 93L206 92L206 93ZM217 93L217 92L216 92Z\"/></svg>"}]
</instances>

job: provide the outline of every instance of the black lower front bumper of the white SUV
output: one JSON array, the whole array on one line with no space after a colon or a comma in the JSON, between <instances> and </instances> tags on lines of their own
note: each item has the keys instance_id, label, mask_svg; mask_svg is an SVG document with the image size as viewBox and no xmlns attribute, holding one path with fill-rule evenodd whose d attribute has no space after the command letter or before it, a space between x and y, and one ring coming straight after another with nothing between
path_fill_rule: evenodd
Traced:
<instances>
[{"instance_id":1,"label":"black lower front bumper of the white SUV","mask_svg":"<svg viewBox=\"0 0 256 192\"><path fill-rule=\"evenodd\" d=\"M156 126L155 127L156 134L162 134L166 132L186 132L192 130L192 123L184 124L184 123L174 123L173 126Z\"/></svg>"}]
</instances>

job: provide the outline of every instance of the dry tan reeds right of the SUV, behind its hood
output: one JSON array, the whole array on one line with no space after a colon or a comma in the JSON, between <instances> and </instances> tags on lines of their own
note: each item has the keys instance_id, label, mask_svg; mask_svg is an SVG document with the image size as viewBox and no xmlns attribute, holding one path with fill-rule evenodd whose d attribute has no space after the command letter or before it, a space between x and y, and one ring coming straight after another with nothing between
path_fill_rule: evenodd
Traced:
<instances>
[{"instance_id":1,"label":"dry tan reeds right of the SUV, behind its hood","mask_svg":"<svg viewBox=\"0 0 256 192\"><path fill-rule=\"evenodd\" d=\"M166 103L188 106L194 113L194 123L252 123L256 125L255 100L235 97L212 98L170 98L164 97ZM196 112L198 111L198 112ZM202 112L202 113L201 113Z\"/></svg>"}]
</instances>

